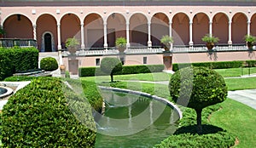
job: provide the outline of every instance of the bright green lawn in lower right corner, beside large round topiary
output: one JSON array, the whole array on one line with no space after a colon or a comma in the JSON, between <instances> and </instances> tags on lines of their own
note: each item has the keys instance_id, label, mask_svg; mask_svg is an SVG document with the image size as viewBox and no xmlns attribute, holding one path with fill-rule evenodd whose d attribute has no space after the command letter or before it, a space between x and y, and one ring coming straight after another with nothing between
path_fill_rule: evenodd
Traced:
<instances>
[{"instance_id":1,"label":"bright green lawn in lower right corner, beside large round topiary","mask_svg":"<svg viewBox=\"0 0 256 148\"><path fill-rule=\"evenodd\" d=\"M223 109L212 114L211 123L236 135L237 147L256 147L256 110L235 100L225 100L221 105Z\"/></svg>"}]
</instances>

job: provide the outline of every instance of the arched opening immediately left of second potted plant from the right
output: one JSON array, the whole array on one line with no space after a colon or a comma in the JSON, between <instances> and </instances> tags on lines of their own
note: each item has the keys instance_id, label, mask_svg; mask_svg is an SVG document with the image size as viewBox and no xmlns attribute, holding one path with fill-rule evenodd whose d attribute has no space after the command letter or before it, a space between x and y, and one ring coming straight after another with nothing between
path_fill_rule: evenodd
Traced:
<instances>
[{"instance_id":1,"label":"arched opening immediately left of second potted plant from the right","mask_svg":"<svg viewBox=\"0 0 256 148\"><path fill-rule=\"evenodd\" d=\"M203 44L201 38L209 34L209 17L205 13L195 14L193 17L193 42L194 44Z\"/></svg>"}]
</instances>

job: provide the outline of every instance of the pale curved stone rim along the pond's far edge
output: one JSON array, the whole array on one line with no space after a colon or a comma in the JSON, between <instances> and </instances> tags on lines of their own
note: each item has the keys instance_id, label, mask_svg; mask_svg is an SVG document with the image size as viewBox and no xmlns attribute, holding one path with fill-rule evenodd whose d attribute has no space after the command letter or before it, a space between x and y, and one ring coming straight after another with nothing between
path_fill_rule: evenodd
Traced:
<instances>
[{"instance_id":1,"label":"pale curved stone rim along the pond's far edge","mask_svg":"<svg viewBox=\"0 0 256 148\"><path fill-rule=\"evenodd\" d=\"M183 118L183 112L178 108L178 106L175 105L174 103L172 103L170 100L166 100L165 98L161 98L161 97L156 96L156 95L151 95L151 94L148 94L148 93L143 93L143 92L139 92L139 91L135 91L135 90L124 89L124 88L109 88L109 87L103 87L103 86L98 86L98 88L101 88L102 90L113 90L113 91L121 92L121 93L137 94L137 95L141 95L141 96L144 96L144 97L148 97L148 98L153 99L153 100L159 100L160 102L166 103L166 105L172 106L173 109L175 111L177 111L179 119ZM102 111L103 110L104 109L102 109Z\"/></svg>"}]
</instances>

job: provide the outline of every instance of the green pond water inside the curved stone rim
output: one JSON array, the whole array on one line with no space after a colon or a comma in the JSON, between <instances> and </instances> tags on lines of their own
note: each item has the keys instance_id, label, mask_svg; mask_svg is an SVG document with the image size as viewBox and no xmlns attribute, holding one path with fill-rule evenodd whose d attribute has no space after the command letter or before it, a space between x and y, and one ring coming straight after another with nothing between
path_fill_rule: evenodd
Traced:
<instances>
[{"instance_id":1,"label":"green pond water inside the curved stone rim","mask_svg":"<svg viewBox=\"0 0 256 148\"><path fill-rule=\"evenodd\" d=\"M177 129L177 112L157 100L103 91L104 117L98 119L96 148L153 147Z\"/></svg>"}]
</instances>

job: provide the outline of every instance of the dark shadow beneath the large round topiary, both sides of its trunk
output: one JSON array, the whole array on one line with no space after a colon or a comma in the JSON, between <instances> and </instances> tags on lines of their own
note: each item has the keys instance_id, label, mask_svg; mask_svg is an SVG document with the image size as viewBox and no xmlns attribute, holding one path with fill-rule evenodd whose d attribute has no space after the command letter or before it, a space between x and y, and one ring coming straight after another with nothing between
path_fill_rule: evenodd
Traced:
<instances>
[{"instance_id":1,"label":"dark shadow beneath the large round topiary, both sides of its trunk","mask_svg":"<svg viewBox=\"0 0 256 148\"><path fill-rule=\"evenodd\" d=\"M214 125L203 124L202 133L201 134L216 134L218 132L223 132L223 128L216 127ZM174 134L197 134L196 132L196 125L189 125L186 127L178 128Z\"/></svg>"}]
</instances>

